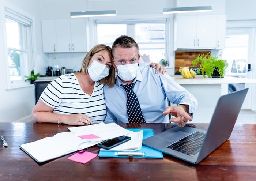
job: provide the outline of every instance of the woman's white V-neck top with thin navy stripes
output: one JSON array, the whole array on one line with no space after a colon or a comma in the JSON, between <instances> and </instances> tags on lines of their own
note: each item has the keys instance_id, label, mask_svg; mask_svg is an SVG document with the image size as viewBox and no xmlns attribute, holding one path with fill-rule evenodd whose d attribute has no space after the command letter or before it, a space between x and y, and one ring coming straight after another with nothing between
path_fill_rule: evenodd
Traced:
<instances>
[{"instance_id":1,"label":"woman's white V-neck top with thin navy stripes","mask_svg":"<svg viewBox=\"0 0 256 181\"><path fill-rule=\"evenodd\" d=\"M84 93L74 73L61 75L45 88L40 99L58 114L86 114L93 123L106 116L103 85L95 82L93 93Z\"/></svg>"}]
</instances>

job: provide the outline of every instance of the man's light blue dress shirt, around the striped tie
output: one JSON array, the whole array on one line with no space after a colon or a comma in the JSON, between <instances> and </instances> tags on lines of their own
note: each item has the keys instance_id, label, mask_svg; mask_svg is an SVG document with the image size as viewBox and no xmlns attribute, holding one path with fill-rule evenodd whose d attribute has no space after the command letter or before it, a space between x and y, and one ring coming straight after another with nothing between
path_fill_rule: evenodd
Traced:
<instances>
[{"instance_id":1,"label":"man's light blue dress shirt, around the striped tie","mask_svg":"<svg viewBox=\"0 0 256 181\"><path fill-rule=\"evenodd\" d=\"M169 116L163 115L168 106L167 99L173 104L189 105L189 113L197 110L197 100L185 88L177 84L166 73L155 74L150 67L143 67L138 71L133 90L138 97L140 107L147 123L169 123ZM128 123L126 112L126 92L122 86L125 84L118 77L114 87L104 86L104 97L107 107L107 115L104 122ZM167 98L167 99L166 99Z\"/></svg>"}]
</instances>

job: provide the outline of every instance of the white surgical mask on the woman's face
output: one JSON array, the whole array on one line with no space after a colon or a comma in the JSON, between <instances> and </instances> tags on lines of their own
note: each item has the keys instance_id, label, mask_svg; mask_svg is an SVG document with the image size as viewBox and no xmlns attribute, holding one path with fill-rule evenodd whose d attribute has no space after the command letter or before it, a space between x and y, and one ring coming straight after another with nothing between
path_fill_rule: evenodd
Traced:
<instances>
[{"instance_id":1,"label":"white surgical mask on the woman's face","mask_svg":"<svg viewBox=\"0 0 256 181\"><path fill-rule=\"evenodd\" d=\"M93 60L91 58L91 60ZM88 67L88 73L91 77L91 80L94 82L101 80L109 75L109 69L106 65L99 63L96 60L93 60L91 65Z\"/></svg>"}]
</instances>

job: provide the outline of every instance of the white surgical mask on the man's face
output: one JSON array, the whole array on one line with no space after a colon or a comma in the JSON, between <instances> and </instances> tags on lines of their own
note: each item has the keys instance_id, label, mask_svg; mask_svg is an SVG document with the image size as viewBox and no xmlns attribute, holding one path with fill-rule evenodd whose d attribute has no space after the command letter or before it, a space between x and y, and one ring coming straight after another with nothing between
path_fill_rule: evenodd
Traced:
<instances>
[{"instance_id":1,"label":"white surgical mask on the man's face","mask_svg":"<svg viewBox=\"0 0 256 181\"><path fill-rule=\"evenodd\" d=\"M116 64L116 63L114 63ZM133 80L137 76L139 70L138 63L126 64L126 65L116 65L117 75L124 81Z\"/></svg>"}]
</instances>

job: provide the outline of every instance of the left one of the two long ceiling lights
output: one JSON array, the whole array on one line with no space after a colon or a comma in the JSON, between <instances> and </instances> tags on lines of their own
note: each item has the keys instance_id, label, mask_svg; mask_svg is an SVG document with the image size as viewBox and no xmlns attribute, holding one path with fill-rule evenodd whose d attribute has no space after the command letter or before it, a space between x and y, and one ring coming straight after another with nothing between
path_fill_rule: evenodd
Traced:
<instances>
[{"instance_id":1,"label":"left one of the two long ceiling lights","mask_svg":"<svg viewBox=\"0 0 256 181\"><path fill-rule=\"evenodd\" d=\"M116 10L70 12L70 16L71 18L83 18L93 16L116 16Z\"/></svg>"}]
</instances>

